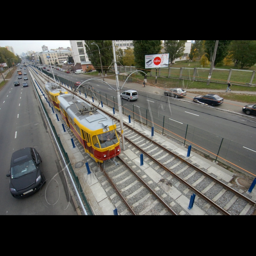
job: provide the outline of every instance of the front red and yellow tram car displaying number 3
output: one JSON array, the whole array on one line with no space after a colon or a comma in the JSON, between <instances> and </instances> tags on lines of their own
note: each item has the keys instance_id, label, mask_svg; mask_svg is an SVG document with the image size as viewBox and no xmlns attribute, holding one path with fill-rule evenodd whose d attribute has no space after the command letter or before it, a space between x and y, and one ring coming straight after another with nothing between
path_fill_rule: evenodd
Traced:
<instances>
[{"instance_id":1,"label":"front red and yellow tram car displaying number 3","mask_svg":"<svg viewBox=\"0 0 256 256\"><path fill-rule=\"evenodd\" d=\"M68 127L96 162L120 154L116 124L110 117L72 94L57 96L57 103Z\"/></svg>"}]
</instances>

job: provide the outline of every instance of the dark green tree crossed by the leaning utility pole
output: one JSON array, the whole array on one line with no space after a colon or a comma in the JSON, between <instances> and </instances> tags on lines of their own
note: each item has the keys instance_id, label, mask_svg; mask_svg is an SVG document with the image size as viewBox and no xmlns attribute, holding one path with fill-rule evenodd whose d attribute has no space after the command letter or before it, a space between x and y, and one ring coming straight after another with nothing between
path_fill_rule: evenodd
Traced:
<instances>
[{"instance_id":1,"label":"dark green tree crossed by the leaning utility pole","mask_svg":"<svg viewBox=\"0 0 256 256\"><path fill-rule=\"evenodd\" d=\"M208 54L210 61L214 52L215 41L216 40L205 40L205 52ZM232 40L219 40L216 57L214 61L214 67L216 66L217 63L221 63L229 53L229 46L231 41Z\"/></svg>"}]
</instances>

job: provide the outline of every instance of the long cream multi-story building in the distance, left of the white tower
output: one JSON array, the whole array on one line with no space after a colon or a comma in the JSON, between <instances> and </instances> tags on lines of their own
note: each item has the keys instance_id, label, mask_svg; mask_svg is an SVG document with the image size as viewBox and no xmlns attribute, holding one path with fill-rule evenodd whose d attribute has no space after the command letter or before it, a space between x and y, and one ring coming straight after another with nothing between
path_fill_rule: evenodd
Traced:
<instances>
[{"instance_id":1,"label":"long cream multi-story building in the distance, left of the white tower","mask_svg":"<svg viewBox=\"0 0 256 256\"><path fill-rule=\"evenodd\" d=\"M35 53L36 60L39 59L39 56L41 57L43 64L50 65L50 63L62 63L63 61L68 59L68 56L73 57L73 54L69 50L46 50L44 52ZM50 58L48 59L46 56L50 56Z\"/></svg>"}]
</instances>

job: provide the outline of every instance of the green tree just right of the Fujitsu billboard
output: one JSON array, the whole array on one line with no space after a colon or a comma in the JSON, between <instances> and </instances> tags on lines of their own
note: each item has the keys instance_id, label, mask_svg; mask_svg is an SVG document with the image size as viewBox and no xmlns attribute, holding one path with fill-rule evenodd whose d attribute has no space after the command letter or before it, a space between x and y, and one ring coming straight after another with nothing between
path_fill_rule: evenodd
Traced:
<instances>
[{"instance_id":1,"label":"green tree just right of the Fujitsu billboard","mask_svg":"<svg viewBox=\"0 0 256 256\"><path fill-rule=\"evenodd\" d=\"M164 40L165 52L169 53L171 63L183 56L186 42L187 40Z\"/></svg>"}]
</instances>

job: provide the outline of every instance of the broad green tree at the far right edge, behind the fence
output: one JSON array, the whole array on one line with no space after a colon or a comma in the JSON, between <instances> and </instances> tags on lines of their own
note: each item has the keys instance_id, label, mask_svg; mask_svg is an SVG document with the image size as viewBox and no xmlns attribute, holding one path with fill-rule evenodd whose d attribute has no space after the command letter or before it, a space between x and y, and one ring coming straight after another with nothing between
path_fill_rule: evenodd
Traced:
<instances>
[{"instance_id":1,"label":"broad green tree at the far right edge, behind the fence","mask_svg":"<svg viewBox=\"0 0 256 256\"><path fill-rule=\"evenodd\" d=\"M230 46L231 59L235 66L251 67L256 63L256 41L234 40Z\"/></svg>"}]
</instances>

